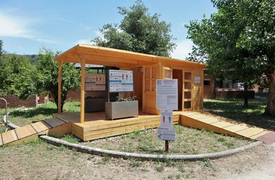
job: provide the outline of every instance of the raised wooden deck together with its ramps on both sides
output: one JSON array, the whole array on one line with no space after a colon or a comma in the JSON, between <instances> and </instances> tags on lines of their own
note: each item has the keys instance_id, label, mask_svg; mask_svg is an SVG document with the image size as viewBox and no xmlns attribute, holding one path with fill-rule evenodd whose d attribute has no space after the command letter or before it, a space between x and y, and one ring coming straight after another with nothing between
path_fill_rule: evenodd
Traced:
<instances>
[{"instance_id":1,"label":"raised wooden deck together with its ramps on both sides","mask_svg":"<svg viewBox=\"0 0 275 180\"><path fill-rule=\"evenodd\" d=\"M250 126L218 115L206 112L175 111L174 124L192 128L206 129L216 133L243 136L271 144L275 142L275 133L264 128ZM86 113L85 123L80 124L80 113L54 114L54 118L19 127L0 134L0 146L24 142L38 135L62 137L72 133L88 141L160 126L159 115L140 113L138 117L120 120L106 120L104 112Z\"/></svg>"}]
</instances>

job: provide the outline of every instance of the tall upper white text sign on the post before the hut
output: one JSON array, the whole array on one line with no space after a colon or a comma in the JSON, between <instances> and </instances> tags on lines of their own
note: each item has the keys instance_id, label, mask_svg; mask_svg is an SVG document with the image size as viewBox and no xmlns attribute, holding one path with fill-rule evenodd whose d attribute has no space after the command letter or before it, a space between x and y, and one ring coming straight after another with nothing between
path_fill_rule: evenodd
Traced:
<instances>
[{"instance_id":1,"label":"tall upper white text sign on the post before the hut","mask_svg":"<svg viewBox=\"0 0 275 180\"><path fill-rule=\"evenodd\" d=\"M157 109L160 111L177 110L177 79L156 80Z\"/></svg>"}]
</instances>

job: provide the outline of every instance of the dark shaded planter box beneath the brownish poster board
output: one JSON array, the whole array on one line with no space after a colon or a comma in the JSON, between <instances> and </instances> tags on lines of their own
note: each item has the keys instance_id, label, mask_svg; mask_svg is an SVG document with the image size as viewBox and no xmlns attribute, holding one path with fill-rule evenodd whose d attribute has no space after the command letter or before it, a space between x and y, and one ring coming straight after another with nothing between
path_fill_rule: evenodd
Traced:
<instances>
[{"instance_id":1,"label":"dark shaded planter box beneath the brownish poster board","mask_svg":"<svg viewBox=\"0 0 275 180\"><path fill-rule=\"evenodd\" d=\"M85 112L105 111L104 96L88 96L85 99Z\"/></svg>"}]
</instances>

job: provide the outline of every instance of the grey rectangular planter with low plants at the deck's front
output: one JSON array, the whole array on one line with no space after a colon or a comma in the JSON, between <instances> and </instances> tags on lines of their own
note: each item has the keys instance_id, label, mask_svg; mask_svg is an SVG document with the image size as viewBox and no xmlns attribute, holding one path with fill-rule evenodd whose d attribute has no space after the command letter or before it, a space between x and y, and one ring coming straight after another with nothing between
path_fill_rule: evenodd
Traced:
<instances>
[{"instance_id":1,"label":"grey rectangular planter with low plants at the deck's front","mask_svg":"<svg viewBox=\"0 0 275 180\"><path fill-rule=\"evenodd\" d=\"M108 120L137 117L138 101L134 97L120 98L115 102L105 102L105 115Z\"/></svg>"}]
</instances>

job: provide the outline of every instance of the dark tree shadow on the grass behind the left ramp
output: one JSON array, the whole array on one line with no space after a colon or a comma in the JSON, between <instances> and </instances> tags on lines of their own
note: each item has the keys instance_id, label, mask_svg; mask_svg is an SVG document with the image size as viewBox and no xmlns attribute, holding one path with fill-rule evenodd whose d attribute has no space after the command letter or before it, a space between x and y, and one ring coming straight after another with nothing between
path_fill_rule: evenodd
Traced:
<instances>
[{"instance_id":1,"label":"dark tree shadow on the grass behind the left ramp","mask_svg":"<svg viewBox=\"0 0 275 180\"><path fill-rule=\"evenodd\" d=\"M49 107L38 107L36 109L31 109L31 110L21 110L21 111L13 111L10 113L11 116L14 117L34 117L36 115L52 115L53 113L57 113L56 108L49 108Z\"/></svg>"}]
</instances>

